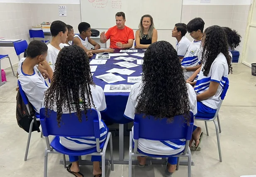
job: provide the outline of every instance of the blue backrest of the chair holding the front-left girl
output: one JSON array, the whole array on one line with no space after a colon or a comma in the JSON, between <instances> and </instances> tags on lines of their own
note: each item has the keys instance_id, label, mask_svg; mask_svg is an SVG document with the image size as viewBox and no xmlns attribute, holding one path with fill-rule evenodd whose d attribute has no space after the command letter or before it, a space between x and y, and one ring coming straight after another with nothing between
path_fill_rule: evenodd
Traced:
<instances>
[{"instance_id":1,"label":"blue backrest of the chair holding the front-left girl","mask_svg":"<svg viewBox=\"0 0 256 177\"><path fill-rule=\"evenodd\" d=\"M86 120L86 116L88 120ZM57 122L57 113L55 111L40 109L40 123L43 135L61 136L61 137L95 137L100 138L100 124L98 113L95 109L87 111L82 115L82 122L79 122L76 113L65 113L61 116L60 127Z\"/></svg>"}]
</instances>

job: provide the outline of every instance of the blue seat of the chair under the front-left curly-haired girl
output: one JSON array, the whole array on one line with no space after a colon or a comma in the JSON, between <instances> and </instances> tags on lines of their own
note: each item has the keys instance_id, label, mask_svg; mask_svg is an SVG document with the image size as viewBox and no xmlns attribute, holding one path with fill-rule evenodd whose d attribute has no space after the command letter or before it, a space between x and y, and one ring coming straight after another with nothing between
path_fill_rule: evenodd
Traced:
<instances>
[{"instance_id":1,"label":"blue seat of the chair under the front-left curly-haired girl","mask_svg":"<svg viewBox=\"0 0 256 177\"><path fill-rule=\"evenodd\" d=\"M107 140L107 138L106 138L106 140ZM106 140L104 142L100 143L100 149L103 148ZM71 149L67 149L66 147L64 147L60 144L59 137L54 138L54 140L51 142L51 146L57 152L65 154L65 155L69 155L69 156L84 156L84 155L87 155L87 154L90 154L90 153L97 152L96 147L91 148L91 149L81 150L81 151L74 151L74 150L71 150Z\"/></svg>"}]
</instances>

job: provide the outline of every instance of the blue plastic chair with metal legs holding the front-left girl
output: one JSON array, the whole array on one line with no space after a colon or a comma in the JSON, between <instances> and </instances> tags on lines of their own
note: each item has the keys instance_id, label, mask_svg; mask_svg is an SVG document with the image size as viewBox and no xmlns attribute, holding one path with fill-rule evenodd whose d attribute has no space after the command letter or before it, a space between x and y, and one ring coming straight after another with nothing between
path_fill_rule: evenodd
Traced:
<instances>
[{"instance_id":1,"label":"blue plastic chair with metal legs holding the front-left girl","mask_svg":"<svg viewBox=\"0 0 256 177\"><path fill-rule=\"evenodd\" d=\"M63 154L63 165L66 168L66 158L65 155L70 156L84 156L84 155L94 155L102 156L102 177L105 177L105 155L107 144L110 141L110 158L111 158L111 170L114 171L113 163L113 145L112 145L112 135L111 132L107 134L107 138L104 142L100 143L100 124L98 113L96 110L88 110L86 120L83 114L82 122L79 122L76 113L66 113L61 116L61 126L58 126L56 120L57 113L48 110L46 117L46 111L44 108L40 109L40 122L43 130L43 135L46 139L46 149L44 152L44 177L47 177L47 158L48 153L62 153ZM54 135L54 139L51 144L49 142L49 135ZM82 151L73 151L65 148L59 142L59 137L95 137L96 147L91 149L86 149Z\"/></svg>"}]
</instances>

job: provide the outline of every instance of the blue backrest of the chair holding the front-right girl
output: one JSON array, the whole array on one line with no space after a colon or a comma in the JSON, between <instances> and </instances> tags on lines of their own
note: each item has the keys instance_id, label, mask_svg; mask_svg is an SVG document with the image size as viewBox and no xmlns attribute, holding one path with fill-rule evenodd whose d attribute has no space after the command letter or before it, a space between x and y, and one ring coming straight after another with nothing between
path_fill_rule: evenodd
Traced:
<instances>
[{"instance_id":1,"label":"blue backrest of the chair holding the front-right girl","mask_svg":"<svg viewBox=\"0 0 256 177\"><path fill-rule=\"evenodd\" d=\"M171 141L178 139L190 140L193 132L194 117L190 112L189 126L184 122L182 115L175 116L169 123L167 118L155 119L153 116L143 117L144 114L136 114L134 118L134 139L150 139L158 141Z\"/></svg>"}]
</instances>

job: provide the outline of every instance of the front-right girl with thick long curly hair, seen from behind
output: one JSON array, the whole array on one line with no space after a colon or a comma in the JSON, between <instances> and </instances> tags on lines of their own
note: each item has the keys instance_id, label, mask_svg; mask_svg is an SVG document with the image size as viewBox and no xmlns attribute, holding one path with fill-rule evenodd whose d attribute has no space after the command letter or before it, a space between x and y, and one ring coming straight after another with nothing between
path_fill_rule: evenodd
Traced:
<instances>
[{"instance_id":1,"label":"front-right girl with thick long curly hair, seen from behind","mask_svg":"<svg viewBox=\"0 0 256 177\"><path fill-rule=\"evenodd\" d=\"M162 55L159 57L159 54ZM145 113L171 120L176 115L187 115L189 111L196 115L196 95L193 87L185 81L173 46L166 41L154 42L143 59L142 81L133 85L124 116L133 120L136 113ZM184 150L185 140L160 142L139 139L138 148L149 154L174 155ZM146 157L138 157L138 161L143 166ZM176 164L176 157L168 158L166 175L170 176L176 170Z\"/></svg>"}]
</instances>

